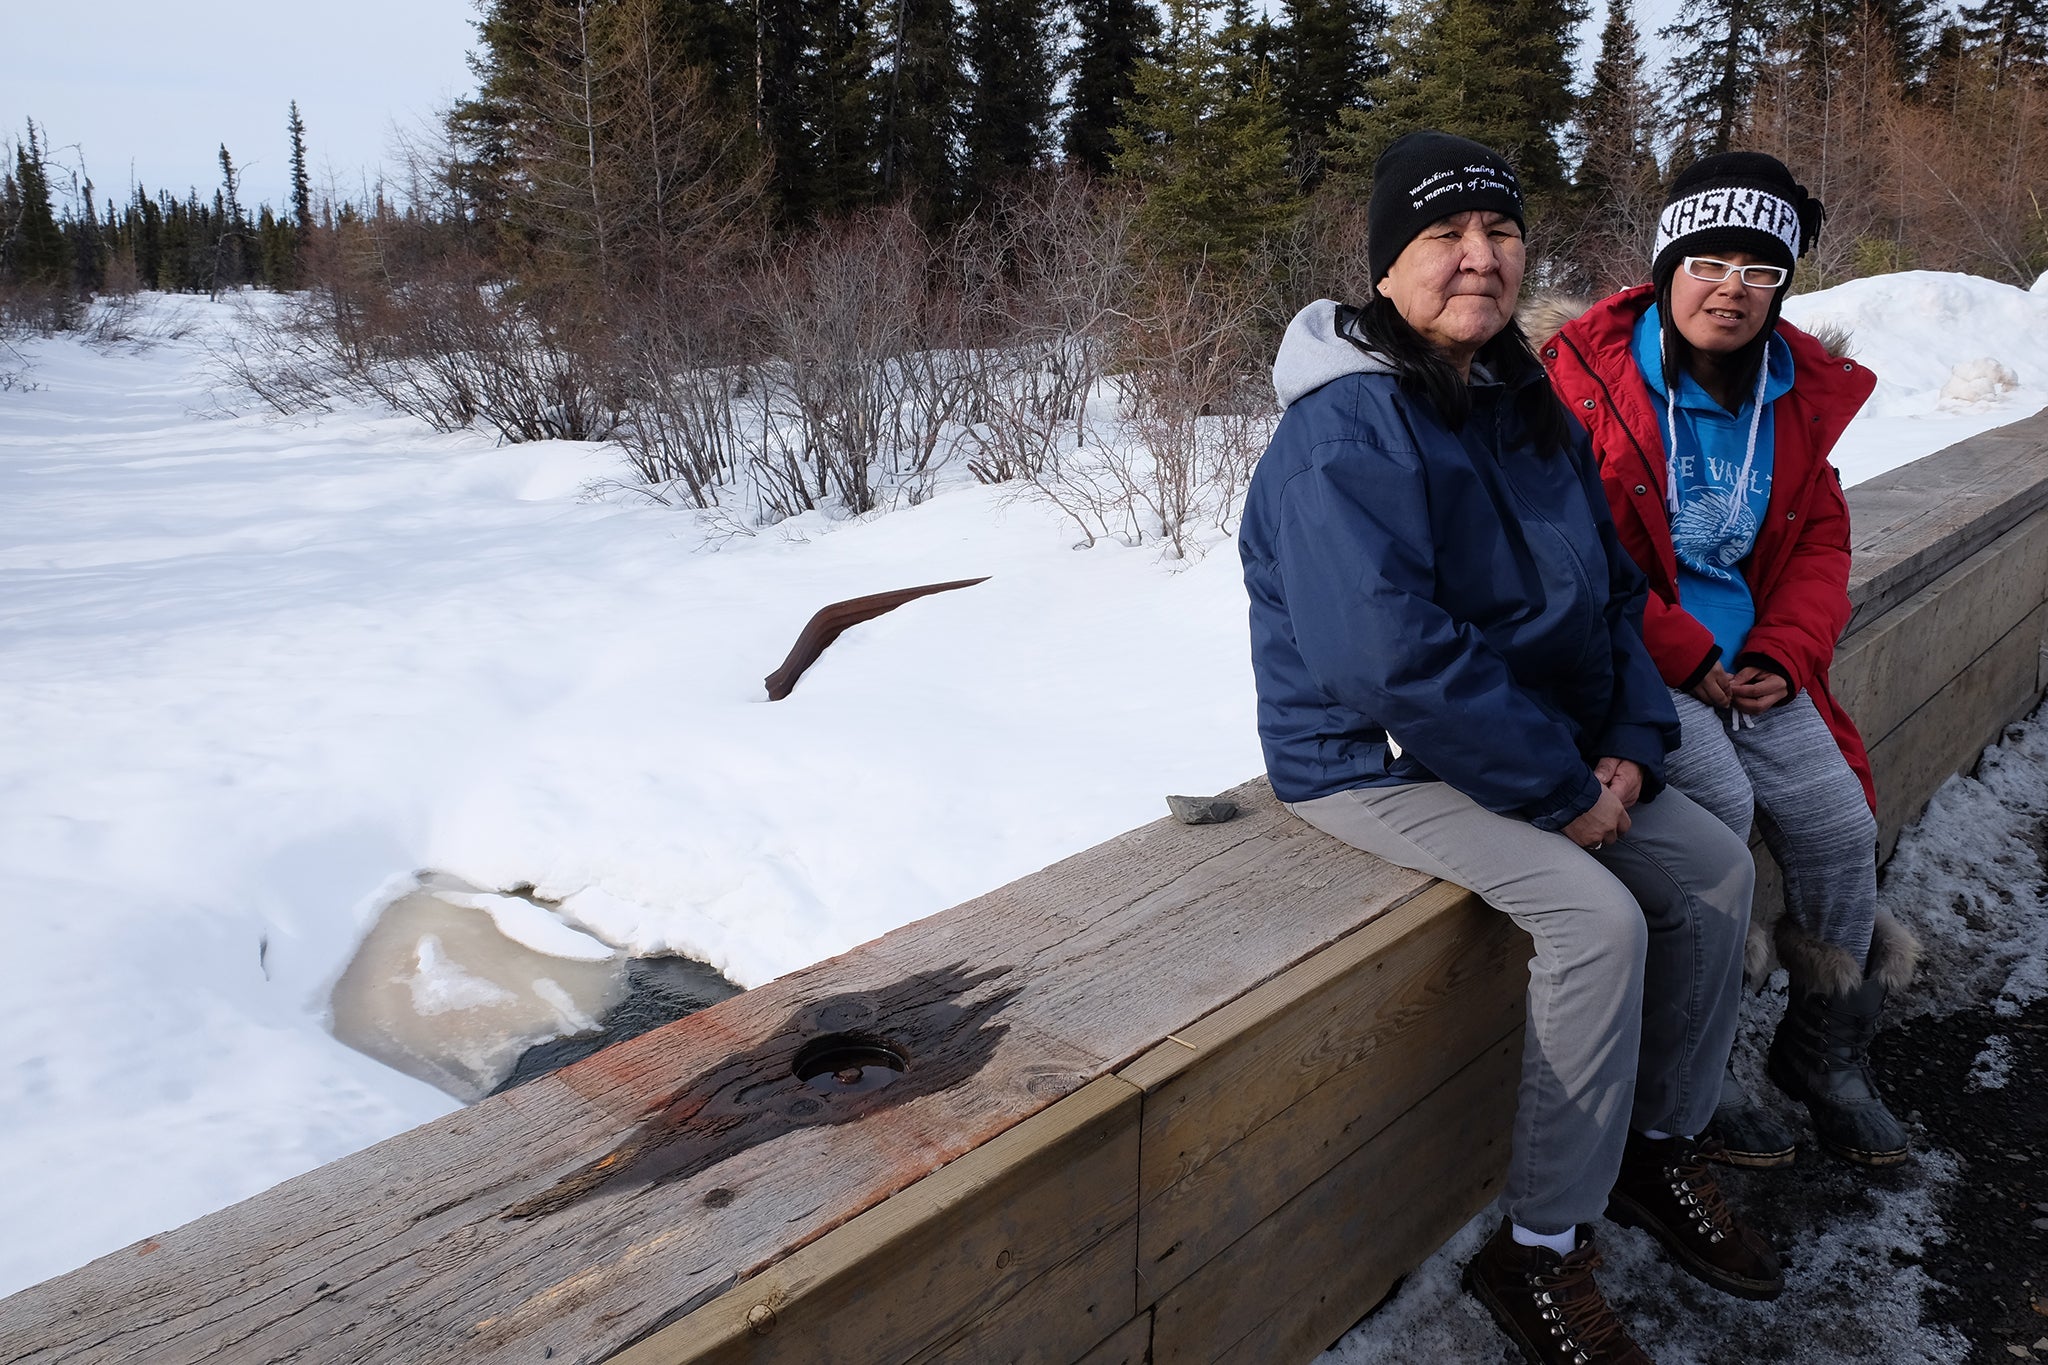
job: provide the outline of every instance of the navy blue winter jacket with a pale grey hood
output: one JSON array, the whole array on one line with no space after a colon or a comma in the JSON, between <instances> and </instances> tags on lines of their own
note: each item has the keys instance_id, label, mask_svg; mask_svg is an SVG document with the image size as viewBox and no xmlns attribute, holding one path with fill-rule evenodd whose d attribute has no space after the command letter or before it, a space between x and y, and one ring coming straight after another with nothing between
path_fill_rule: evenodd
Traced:
<instances>
[{"instance_id":1,"label":"navy blue winter jacket with a pale grey hood","mask_svg":"<svg viewBox=\"0 0 2048 1365\"><path fill-rule=\"evenodd\" d=\"M1337 323L1325 299L1288 325L1286 413L1237 538L1274 794L1442 780L1563 829L1612 755L1653 798L1677 714L1583 430L1534 448L1516 393L1548 381L1530 364L1505 383L1475 368L1452 432Z\"/></svg>"}]
</instances>

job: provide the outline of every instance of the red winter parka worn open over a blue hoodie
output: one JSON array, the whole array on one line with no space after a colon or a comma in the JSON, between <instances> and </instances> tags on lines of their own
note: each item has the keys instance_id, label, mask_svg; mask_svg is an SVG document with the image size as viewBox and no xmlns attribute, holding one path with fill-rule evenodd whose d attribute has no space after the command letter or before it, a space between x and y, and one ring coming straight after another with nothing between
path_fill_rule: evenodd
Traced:
<instances>
[{"instance_id":1,"label":"red winter parka worn open over a blue hoodie","mask_svg":"<svg viewBox=\"0 0 2048 1365\"><path fill-rule=\"evenodd\" d=\"M1706 667L1714 634L1677 604L1677 553L1663 503L1663 420L1630 352L1636 319L1655 301L1655 291L1640 284L1595 303L1542 344L1542 360L1565 407L1593 436L1614 526L1651 581L1642 639L1665 684L1681 688ZM1757 606L1743 651L1780 663L1792 694L1812 698L1876 806L1864 739L1827 690L1835 643L1849 624L1849 505L1827 456L1878 381L1788 321L1778 323L1778 336L1792 348L1792 391L1772 403L1772 497L1741 563Z\"/></svg>"}]
</instances>

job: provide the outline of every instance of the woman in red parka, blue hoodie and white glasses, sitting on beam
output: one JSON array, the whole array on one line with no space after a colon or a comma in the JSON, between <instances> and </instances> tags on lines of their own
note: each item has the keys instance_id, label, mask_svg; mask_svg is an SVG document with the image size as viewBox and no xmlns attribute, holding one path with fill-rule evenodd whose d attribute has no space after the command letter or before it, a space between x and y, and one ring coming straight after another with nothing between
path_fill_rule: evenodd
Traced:
<instances>
[{"instance_id":1,"label":"woman in red parka, blue hoodie and white glasses, sitting on beam","mask_svg":"<svg viewBox=\"0 0 2048 1365\"><path fill-rule=\"evenodd\" d=\"M1651 579L1642 634L1681 726L1671 786L1745 839L1755 817L1784 870L1792 1003L1769 1076L1827 1150L1890 1164L1907 1134L1868 1048L1919 945L1876 913L1870 759L1827 690L1849 620L1849 510L1827 454L1876 379L1780 321L1821 219L1776 158L1704 158L1659 215L1651 284L1593 305L1542 358ZM1712 1132L1729 1160L1792 1160L1733 1076Z\"/></svg>"}]
</instances>

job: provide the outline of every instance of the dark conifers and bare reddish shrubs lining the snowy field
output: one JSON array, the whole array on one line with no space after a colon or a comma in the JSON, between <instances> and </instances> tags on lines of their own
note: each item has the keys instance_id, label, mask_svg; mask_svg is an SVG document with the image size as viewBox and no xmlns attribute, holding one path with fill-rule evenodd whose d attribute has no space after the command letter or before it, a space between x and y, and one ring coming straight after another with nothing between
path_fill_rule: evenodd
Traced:
<instances>
[{"instance_id":1,"label":"dark conifers and bare reddish shrubs lining the snowy field","mask_svg":"<svg viewBox=\"0 0 2048 1365\"><path fill-rule=\"evenodd\" d=\"M475 96L360 209L315 219L297 111L295 203L254 221L225 149L213 203L45 215L31 129L0 289L295 287L240 364L287 411L614 438L655 495L768 518L915 499L952 460L1184 551L1229 520L1286 315L1366 293L1370 168L1415 127L1516 160L1536 284L1645 278L1663 186L1731 147L1827 203L1800 287L2048 268L2048 0L1698 0L1663 68L1614 0L1577 90L1583 16L492 0Z\"/></svg>"}]
</instances>

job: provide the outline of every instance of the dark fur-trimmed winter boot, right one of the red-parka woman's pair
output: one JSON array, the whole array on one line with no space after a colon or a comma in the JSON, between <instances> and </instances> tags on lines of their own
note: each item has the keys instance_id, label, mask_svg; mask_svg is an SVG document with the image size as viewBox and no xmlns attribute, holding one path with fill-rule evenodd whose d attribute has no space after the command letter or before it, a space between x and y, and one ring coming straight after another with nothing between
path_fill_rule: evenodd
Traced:
<instances>
[{"instance_id":1,"label":"dark fur-trimmed winter boot, right one of the red-parka woman's pair","mask_svg":"<svg viewBox=\"0 0 2048 1365\"><path fill-rule=\"evenodd\" d=\"M1905 1160L1907 1130L1878 1095L1870 1040L1884 997L1913 980L1919 941L1890 915L1878 915L1860 970L1849 954L1806 935L1788 915L1778 921L1778 958L1792 974L1792 1005L1772 1038L1772 1081L1806 1105L1815 1136L1835 1156L1864 1166Z\"/></svg>"}]
</instances>

